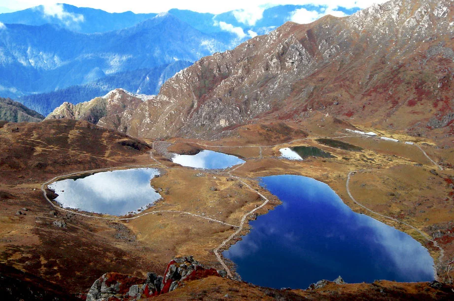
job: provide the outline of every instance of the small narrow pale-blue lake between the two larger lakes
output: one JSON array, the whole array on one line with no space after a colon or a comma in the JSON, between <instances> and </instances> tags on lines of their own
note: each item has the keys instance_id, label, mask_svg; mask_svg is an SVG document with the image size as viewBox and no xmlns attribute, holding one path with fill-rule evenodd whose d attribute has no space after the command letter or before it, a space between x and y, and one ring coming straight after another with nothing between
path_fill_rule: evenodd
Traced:
<instances>
[{"instance_id":1,"label":"small narrow pale-blue lake between the two larger lakes","mask_svg":"<svg viewBox=\"0 0 454 301\"><path fill-rule=\"evenodd\" d=\"M245 161L237 156L228 155L222 152L201 151L195 155L175 154L172 158L172 162L194 168L224 169L242 164Z\"/></svg>"}]
</instances>

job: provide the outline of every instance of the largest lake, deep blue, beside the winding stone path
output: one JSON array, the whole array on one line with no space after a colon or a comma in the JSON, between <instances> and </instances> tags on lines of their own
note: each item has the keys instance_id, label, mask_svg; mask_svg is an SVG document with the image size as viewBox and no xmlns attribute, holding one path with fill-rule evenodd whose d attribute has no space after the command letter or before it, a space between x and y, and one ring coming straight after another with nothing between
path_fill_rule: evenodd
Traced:
<instances>
[{"instance_id":1,"label":"largest lake, deep blue, beside the winding stone path","mask_svg":"<svg viewBox=\"0 0 454 301\"><path fill-rule=\"evenodd\" d=\"M418 241L351 211L328 185L290 175L261 185L282 205L251 221L250 233L223 252L244 281L306 289L339 275L349 283L434 279L433 259Z\"/></svg>"}]
</instances>

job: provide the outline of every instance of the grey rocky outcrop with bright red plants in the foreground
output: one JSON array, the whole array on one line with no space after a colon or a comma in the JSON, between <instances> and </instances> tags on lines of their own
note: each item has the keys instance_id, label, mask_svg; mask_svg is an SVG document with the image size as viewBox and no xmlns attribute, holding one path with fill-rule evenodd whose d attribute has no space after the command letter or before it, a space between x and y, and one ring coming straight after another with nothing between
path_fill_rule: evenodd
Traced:
<instances>
[{"instance_id":1,"label":"grey rocky outcrop with bright red plants in the foreground","mask_svg":"<svg viewBox=\"0 0 454 301\"><path fill-rule=\"evenodd\" d=\"M119 273L105 273L93 283L88 292L87 301L110 300L109 298L140 300L171 292L182 281L208 276L225 276L225 271L207 268L192 256L175 258L168 264L164 276L148 272L146 279L142 279Z\"/></svg>"}]
</instances>

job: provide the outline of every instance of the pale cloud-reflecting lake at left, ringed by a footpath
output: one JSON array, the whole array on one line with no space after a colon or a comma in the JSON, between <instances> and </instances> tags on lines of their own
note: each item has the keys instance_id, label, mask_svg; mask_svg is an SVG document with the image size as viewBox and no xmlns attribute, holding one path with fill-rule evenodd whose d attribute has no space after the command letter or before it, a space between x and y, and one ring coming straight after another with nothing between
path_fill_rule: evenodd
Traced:
<instances>
[{"instance_id":1,"label":"pale cloud-reflecting lake at left, ringed by a footpath","mask_svg":"<svg viewBox=\"0 0 454 301\"><path fill-rule=\"evenodd\" d=\"M56 181L48 187L58 194L55 201L64 208L125 215L146 209L161 198L150 184L155 175L159 171L153 168L115 170Z\"/></svg>"}]
</instances>

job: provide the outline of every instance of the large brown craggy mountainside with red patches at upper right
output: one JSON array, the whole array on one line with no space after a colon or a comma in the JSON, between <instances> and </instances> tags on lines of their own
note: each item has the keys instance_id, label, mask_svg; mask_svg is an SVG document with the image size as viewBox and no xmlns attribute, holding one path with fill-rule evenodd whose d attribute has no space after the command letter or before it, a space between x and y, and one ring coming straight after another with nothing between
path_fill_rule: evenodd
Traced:
<instances>
[{"instance_id":1,"label":"large brown craggy mountainside with red patches at upper right","mask_svg":"<svg viewBox=\"0 0 454 301\"><path fill-rule=\"evenodd\" d=\"M392 0L286 23L177 73L128 123L139 137L210 138L247 120L323 111L421 134L454 120L454 4Z\"/></svg>"}]
</instances>

